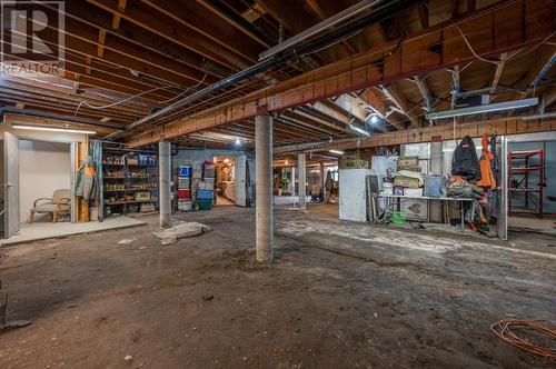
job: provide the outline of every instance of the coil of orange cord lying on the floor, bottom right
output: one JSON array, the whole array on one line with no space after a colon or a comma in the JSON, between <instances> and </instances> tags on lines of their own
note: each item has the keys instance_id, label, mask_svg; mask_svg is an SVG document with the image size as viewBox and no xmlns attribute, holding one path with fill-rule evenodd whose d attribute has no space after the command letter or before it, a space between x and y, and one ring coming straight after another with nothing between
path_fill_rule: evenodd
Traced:
<instances>
[{"instance_id":1,"label":"coil of orange cord lying on the floor, bottom right","mask_svg":"<svg viewBox=\"0 0 556 369\"><path fill-rule=\"evenodd\" d=\"M549 325L554 327L554 323ZM507 319L507 320L500 320L492 325L490 329L496 336L498 336L500 339L503 339L505 342L508 342L509 345L520 348L522 350L527 351L529 353L556 360L556 346L554 346L554 342L556 342L555 328L547 328L534 320ZM539 346L538 343L530 342L524 337L523 332L518 335L519 331L524 330L534 331L540 335L542 337L548 338L548 341L553 342L553 346L544 347Z\"/></svg>"}]
</instances>

